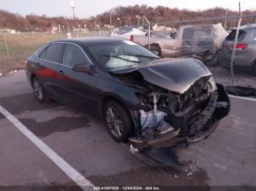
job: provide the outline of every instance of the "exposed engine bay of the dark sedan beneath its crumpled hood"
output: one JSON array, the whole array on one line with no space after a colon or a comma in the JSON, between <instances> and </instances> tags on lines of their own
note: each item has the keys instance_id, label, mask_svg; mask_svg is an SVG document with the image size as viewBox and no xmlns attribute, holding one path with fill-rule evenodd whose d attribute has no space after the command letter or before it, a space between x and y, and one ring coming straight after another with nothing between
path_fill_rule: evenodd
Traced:
<instances>
[{"instance_id":1,"label":"exposed engine bay of the dark sedan beneath its crumpled hood","mask_svg":"<svg viewBox=\"0 0 256 191\"><path fill-rule=\"evenodd\" d=\"M206 138L214 130L211 125L215 120L211 115L219 96L212 77L200 78L183 94L146 82L138 71L121 75L118 79L146 89L146 94L138 95L141 101L140 128L131 141L143 147L162 147L162 141L171 137L182 136L193 142Z\"/></svg>"}]
</instances>

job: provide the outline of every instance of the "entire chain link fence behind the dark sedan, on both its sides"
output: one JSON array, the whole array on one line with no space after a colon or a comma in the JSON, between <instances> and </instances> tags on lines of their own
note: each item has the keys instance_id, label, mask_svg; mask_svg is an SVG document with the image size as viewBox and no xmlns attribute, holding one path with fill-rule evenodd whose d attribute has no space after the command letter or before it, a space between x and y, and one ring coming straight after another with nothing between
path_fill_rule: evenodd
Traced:
<instances>
[{"instance_id":1,"label":"entire chain link fence behind the dark sedan, on both its sides","mask_svg":"<svg viewBox=\"0 0 256 191\"><path fill-rule=\"evenodd\" d=\"M158 23L157 31L152 30L156 28L151 23L151 28L133 26L146 31L149 37L132 37L163 58L199 59L214 74L216 81L224 85L256 87L256 24L253 23L256 23L256 15ZM97 30L0 34L0 74L25 69L26 58L51 40L110 36L110 33Z\"/></svg>"}]
</instances>

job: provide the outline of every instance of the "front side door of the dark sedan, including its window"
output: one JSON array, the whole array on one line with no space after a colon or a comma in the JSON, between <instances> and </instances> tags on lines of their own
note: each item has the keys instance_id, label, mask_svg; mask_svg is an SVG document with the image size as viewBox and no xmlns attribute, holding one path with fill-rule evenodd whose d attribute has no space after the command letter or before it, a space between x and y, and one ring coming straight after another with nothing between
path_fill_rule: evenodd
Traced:
<instances>
[{"instance_id":1,"label":"front side door of the dark sedan, including its window","mask_svg":"<svg viewBox=\"0 0 256 191\"><path fill-rule=\"evenodd\" d=\"M67 43L62 64L58 67L62 76L59 80L60 92L66 104L84 108L97 104L95 97L98 90L95 87L97 75L72 70L72 66L82 63L91 65L91 61L78 44Z\"/></svg>"}]
</instances>

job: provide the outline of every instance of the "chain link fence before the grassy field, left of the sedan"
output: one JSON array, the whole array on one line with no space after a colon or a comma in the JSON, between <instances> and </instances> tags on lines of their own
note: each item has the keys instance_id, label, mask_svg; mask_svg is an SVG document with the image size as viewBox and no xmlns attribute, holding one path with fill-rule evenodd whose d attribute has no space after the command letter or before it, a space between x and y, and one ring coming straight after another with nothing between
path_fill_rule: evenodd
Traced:
<instances>
[{"instance_id":1,"label":"chain link fence before the grassy field, left of the sedan","mask_svg":"<svg viewBox=\"0 0 256 191\"><path fill-rule=\"evenodd\" d=\"M26 58L52 40L86 36L109 36L109 31L0 34L0 75L26 68Z\"/></svg>"}]
</instances>

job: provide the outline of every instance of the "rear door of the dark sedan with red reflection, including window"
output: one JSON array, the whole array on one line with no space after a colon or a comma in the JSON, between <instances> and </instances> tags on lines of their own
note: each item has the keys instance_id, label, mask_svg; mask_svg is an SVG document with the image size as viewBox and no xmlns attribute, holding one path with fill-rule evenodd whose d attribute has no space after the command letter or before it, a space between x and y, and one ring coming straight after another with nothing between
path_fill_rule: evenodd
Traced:
<instances>
[{"instance_id":1,"label":"rear door of the dark sedan with red reflection, including window","mask_svg":"<svg viewBox=\"0 0 256 191\"><path fill-rule=\"evenodd\" d=\"M58 66L61 63L61 54L64 50L64 43L53 42L48 45L40 54L38 55L39 66L36 71L37 77L42 82L47 91L47 94L53 98L61 98L61 94L58 92L57 81L61 78L58 72Z\"/></svg>"}]
</instances>

